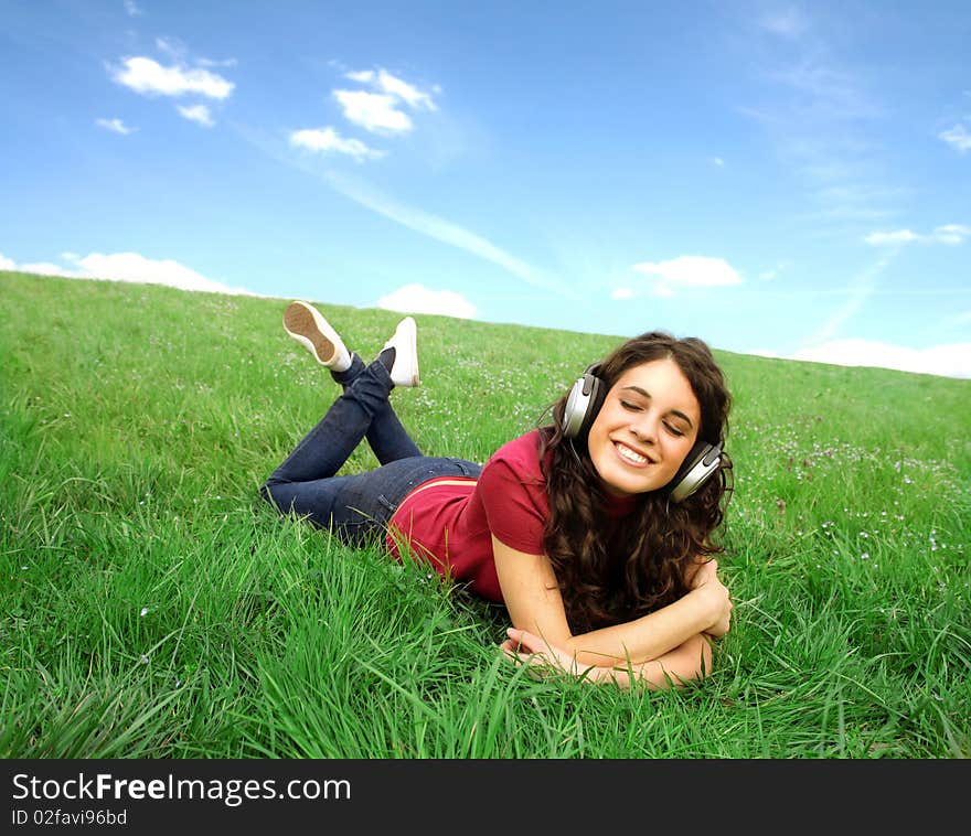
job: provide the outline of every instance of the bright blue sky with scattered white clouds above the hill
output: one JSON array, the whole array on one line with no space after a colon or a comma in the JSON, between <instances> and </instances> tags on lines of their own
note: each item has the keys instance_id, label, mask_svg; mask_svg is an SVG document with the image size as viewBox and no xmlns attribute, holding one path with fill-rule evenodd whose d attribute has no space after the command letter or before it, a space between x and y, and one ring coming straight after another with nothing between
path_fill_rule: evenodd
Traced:
<instances>
[{"instance_id":1,"label":"bright blue sky with scattered white clouds above the hill","mask_svg":"<svg viewBox=\"0 0 971 836\"><path fill-rule=\"evenodd\" d=\"M2 269L971 377L967 0L0 21Z\"/></svg>"}]
</instances>

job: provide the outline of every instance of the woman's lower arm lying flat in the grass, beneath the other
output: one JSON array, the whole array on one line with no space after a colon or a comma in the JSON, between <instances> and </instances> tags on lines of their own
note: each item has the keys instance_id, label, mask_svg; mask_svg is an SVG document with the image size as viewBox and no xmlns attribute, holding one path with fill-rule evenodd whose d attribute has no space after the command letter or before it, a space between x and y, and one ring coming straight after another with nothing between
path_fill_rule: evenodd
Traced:
<instances>
[{"instance_id":1,"label":"woman's lower arm lying flat in the grass, beneath the other","mask_svg":"<svg viewBox=\"0 0 971 836\"><path fill-rule=\"evenodd\" d=\"M612 682L621 688L634 685L645 685L653 689L669 688L672 685L681 687L702 678L712 669L712 647L704 635L692 636L684 644L651 662L618 667L583 665L575 655L552 647L540 636L523 630L510 628L506 635L509 637L502 643L502 650L523 665L534 667L537 672L552 669L583 676L591 683Z\"/></svg>"}]
</instances>

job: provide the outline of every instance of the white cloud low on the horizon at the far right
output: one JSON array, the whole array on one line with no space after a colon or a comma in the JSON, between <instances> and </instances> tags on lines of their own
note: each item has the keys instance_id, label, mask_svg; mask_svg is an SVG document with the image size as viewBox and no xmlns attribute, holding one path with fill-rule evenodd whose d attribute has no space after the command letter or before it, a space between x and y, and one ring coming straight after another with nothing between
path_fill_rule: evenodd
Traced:
<instances>
[{"instance_id":1,"label":"white cloud low on the horizon at the far right","mask_svg":"<svg viewBox=\"0 0 971 836\"><path fill-rule=\"evenodd\" d=\"M971 377L971 343L908 349L871 340L833 340L802 349L788 358L840 366L894 368L945 377Z\"/></svg>"}]
</instances>

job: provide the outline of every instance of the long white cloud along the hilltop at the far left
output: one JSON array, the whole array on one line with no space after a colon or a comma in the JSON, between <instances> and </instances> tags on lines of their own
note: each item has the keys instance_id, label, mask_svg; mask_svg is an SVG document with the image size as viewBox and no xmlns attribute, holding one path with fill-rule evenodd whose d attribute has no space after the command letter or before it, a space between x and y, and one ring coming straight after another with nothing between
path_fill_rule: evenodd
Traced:
<instances>
[{"instance_id":1,"label":"long white cloud along the hilltop at the far left","mask_svg":"<svg viewBox=\"0 0 971 836\"><path fill-rule=\"evenodd\" d=\"M231 288L206 278L202 274L172 259L156 260L137 253L92 253L81 257L73 253L62 254L70 267L56 264L17 265L0 254L0 268L45 276L65 276L73 279L108 279L140 285L167 285L181 290L202 290L210 293L258 296L244 288Z\"/></svg>"}]
</instances>

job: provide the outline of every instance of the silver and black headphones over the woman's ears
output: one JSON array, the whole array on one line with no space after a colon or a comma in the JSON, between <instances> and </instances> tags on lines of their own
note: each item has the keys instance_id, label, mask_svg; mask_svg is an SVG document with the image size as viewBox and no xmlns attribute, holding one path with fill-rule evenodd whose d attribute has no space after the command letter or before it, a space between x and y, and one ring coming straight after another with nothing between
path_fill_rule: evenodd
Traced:
<instances>
[{"instance_id":1,"label":"silver and black headphones over the woman's ears","mask_svg":"<svg viewBox=\"0 0 971 836\"><path fill-rule=\"evenodd\" d=\"M590 425L604 406L607 397L607 385L597 377L599 363L594 363L584 371L583 377L577 379L566 398L566 406L561 419L561 430L564 437L586 438L590 431ZM707 482L722 464L722 443L709 444L698 439L674 478L665 486L671 502L682 502Z\"/></svg>"}]
</instances>

